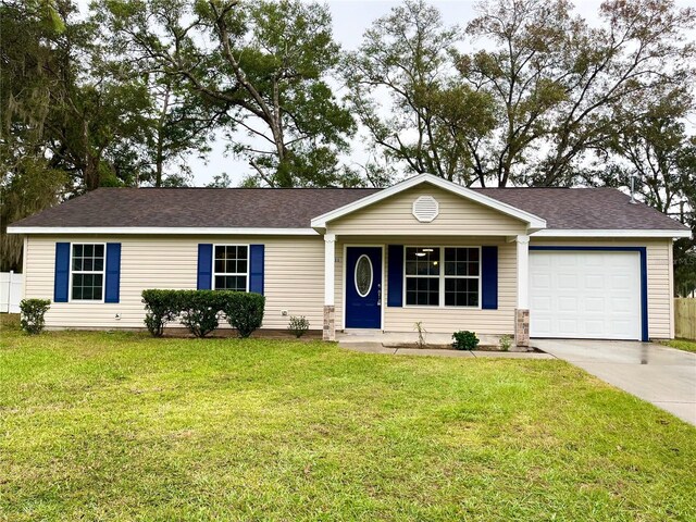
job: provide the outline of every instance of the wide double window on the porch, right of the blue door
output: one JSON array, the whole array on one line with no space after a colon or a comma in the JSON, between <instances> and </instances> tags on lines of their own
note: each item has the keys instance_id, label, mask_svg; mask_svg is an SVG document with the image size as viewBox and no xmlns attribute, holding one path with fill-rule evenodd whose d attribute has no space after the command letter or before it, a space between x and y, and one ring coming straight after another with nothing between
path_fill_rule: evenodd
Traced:
<instances>
[{"instance_id":1,"label":"wide double window on the porch, right of the blue door","mask_svg":"<svg viewBox=\"0 0 696 522\"><path fill-rule=\"evenodd\" d=\"M406 247L406 304L478 308L478 247Z\"/></svg>"}]
</instances>

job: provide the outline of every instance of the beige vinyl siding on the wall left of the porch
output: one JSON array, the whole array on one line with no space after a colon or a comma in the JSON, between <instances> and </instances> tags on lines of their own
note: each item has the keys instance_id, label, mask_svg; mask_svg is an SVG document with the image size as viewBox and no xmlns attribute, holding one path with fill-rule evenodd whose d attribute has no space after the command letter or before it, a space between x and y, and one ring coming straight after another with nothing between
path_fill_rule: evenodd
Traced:
<instances>
[{"instance_id":1,"label":"beige vinyl siding on the wall left of the porch","mask_svg":"<svg viewBox=\"0 0 696 522\"><path fill-rule=\"evenodd\" d=\"M27 298L53 299L55 243L121 243L119 303L55 302L47 313L48 327L140 328L145 288L195 289L198 244L263 244L264 328L287 327L287 316L304 315L321 330L324 299L324 241L316 237L40 237L27 240ZM121 319L116 320L115 314Z\"/></svg>"}]
</instances>

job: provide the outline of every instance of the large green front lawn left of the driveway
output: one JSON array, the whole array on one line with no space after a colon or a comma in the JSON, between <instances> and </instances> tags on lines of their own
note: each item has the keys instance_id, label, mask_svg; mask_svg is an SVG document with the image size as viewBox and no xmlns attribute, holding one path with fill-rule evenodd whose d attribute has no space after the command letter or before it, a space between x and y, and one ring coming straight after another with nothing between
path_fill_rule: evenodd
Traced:
<instances>
[{"instance_id":1,"label":"large green front lawn left of the driveway","mask_svg":"<svg viewBox=\"0 0 696 522\"><path fill-rule=\"evenodd\" d=\"M0 520L695 520L696 430L561 361L8 325Z\"/></svg>"}]
</instances>

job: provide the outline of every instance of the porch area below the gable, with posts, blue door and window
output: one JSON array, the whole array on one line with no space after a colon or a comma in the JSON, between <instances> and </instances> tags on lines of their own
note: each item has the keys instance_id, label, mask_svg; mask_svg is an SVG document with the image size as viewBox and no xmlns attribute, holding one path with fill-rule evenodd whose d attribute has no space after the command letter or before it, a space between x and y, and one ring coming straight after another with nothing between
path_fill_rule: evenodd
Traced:
<instances>
[{"instance_id":1,"label":"porch area below the gable, with posts, blue door and window","mask_svg":"<svg viewBox=\"0 0 696 522\"><path fill-rule=\"evenodd\" d=\"M323 338L451 346L475 332L482 346L529 347L529 236L324 235ZM425 289L424 289L425 288Z\"/></svg>"}]
</instances>

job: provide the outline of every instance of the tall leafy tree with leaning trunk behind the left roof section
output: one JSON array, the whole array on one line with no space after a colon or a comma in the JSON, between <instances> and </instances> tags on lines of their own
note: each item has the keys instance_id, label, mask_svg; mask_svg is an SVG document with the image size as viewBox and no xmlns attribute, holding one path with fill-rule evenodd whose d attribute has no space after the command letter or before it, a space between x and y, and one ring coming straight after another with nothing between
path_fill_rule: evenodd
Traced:
<instances>
[{"instance_id":1,"label":"tall leafy tree with leaning trunk behind the left roof section","mask_svg":"<svg viewBox=\"0 0 696 522\"><path fill-rule=\"evenodd\" d=\"M216 108L231 150L274 187L341 185L355 132L328 74L339 59L325 7L299 0L103 0L139 60ZM241 134L240 134L241 132Z\"/></svg>"}]
</instances>

